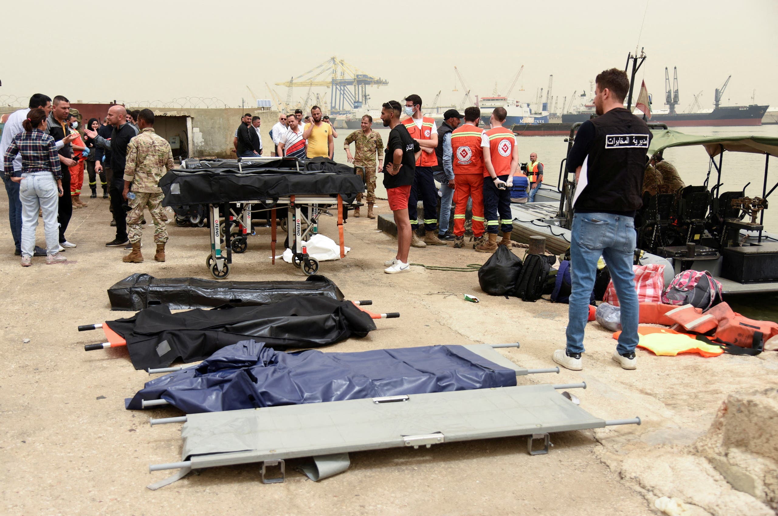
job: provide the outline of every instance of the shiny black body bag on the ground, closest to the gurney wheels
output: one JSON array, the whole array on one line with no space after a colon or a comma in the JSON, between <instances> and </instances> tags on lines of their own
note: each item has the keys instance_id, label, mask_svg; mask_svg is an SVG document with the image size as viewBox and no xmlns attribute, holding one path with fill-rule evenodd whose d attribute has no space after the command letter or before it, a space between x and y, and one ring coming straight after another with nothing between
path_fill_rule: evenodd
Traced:
<instances>
[{"instance_id":1,"label":"shiny black body bag on the ground, closest to the gurney wheels","mask_svg":"<svg viewBox=\"0 0 778 516\"><path fill-rule=\"evenodd\" d=\"M155 305L173 310L233 306L261 306L290 295L324 295L343 299L337 285L324 276L306 281L216 281L199 277L153 277L135 273L108 289L112 310L137 312Z\"/></svg>"}]
</instances>

